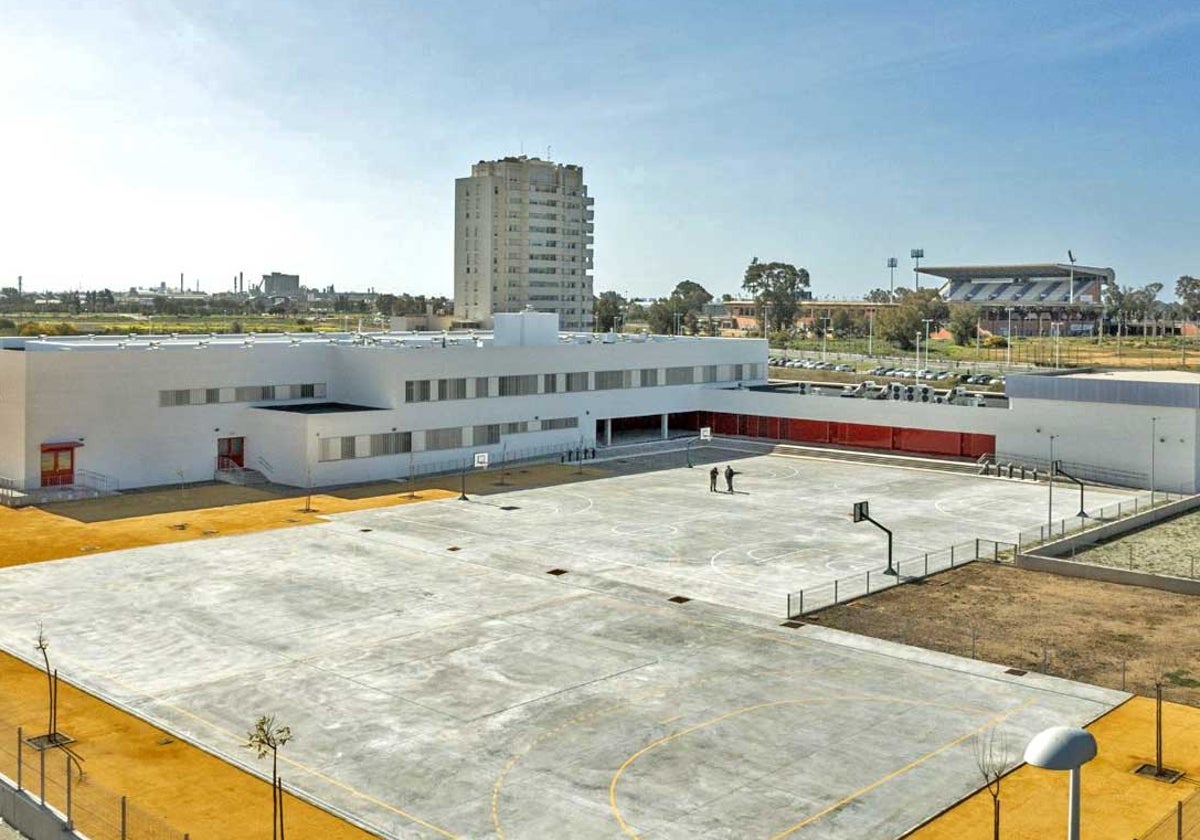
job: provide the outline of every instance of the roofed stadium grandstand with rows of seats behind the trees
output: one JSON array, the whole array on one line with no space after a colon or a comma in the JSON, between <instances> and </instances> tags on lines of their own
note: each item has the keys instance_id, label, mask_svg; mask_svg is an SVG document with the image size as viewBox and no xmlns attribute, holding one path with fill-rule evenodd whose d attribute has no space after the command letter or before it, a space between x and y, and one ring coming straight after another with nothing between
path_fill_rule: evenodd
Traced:
<instances>
[{"instance_id":1,"label":"roofed stadium grandstand with rows of seats behind the trees","mask_svg":"<svg viewBox=\"0 0 1200 840\"><path fill-rule=\"evenodd\" d=\"M1074 263L1031 265L925 265L919 274L943 281L942 298L979 307L980 325L996 335L1094 335L1103 324L1112 269ZM1012 310L1012 313L1009 313Z\"/></svg>"}]
</instances>

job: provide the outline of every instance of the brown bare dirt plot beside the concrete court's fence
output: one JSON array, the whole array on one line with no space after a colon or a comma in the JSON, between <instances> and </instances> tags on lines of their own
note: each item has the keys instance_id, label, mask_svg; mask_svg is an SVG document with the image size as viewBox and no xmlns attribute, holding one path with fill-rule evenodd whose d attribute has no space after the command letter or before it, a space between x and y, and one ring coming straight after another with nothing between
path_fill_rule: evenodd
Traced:
<instances>
[{"instance_id":1,"label":"brown bare dirt plot beside the concrete court's fence","mask_svg":"<svg viewBox=\"0 0 1200 840\"><path fill-rule=\"evenodd\" d=\"M1200 706L1198 607L1190 595L972 563L805 620L961 656L973 646L977 659L1151 696L1159 667L1165 698Z\"/></svg>"}]
</instances>

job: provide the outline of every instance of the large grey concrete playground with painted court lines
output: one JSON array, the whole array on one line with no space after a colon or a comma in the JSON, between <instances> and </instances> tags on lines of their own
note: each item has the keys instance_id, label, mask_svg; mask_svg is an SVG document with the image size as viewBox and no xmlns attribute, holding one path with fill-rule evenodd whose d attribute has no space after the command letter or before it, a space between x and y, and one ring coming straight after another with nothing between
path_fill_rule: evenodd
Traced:
<instances>
[{"instance_id":1,"label":"large grey concrete playground with painted court lines","mask_svg":"<svg viewBox=\"0 0 1200 840\"><path fill-rule=\"evenodd\" d=\"M878 563L853 500L916 548L1036 524L1044 487L734 469L733 496L676 468L5 569L0 647L30 660L43 622L65 678L253 772L276 714L286 784L395 838L892 838L979 786L974 733L1126 697L740 608Z\"/></svg>"}]
</instances>

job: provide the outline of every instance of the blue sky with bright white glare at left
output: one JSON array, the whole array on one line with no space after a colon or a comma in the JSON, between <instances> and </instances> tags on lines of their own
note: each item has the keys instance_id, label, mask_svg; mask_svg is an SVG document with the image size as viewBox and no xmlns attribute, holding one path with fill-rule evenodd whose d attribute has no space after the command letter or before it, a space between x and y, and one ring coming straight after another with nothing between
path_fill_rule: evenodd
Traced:
<instances>
[{"instance_id":1,"label":"blue sky with bright white glare at left","mask_svg":"<svg viewBox=\"0 0 1200 840\"><path fill-rule=\"evenodd\" d=\"M1170 289L1198 35L1181 2L5 0L0 283L449 295L454 179L550 146L598 292L757 256L858 296L912 247Z\"/></svg>"}]
</instances>

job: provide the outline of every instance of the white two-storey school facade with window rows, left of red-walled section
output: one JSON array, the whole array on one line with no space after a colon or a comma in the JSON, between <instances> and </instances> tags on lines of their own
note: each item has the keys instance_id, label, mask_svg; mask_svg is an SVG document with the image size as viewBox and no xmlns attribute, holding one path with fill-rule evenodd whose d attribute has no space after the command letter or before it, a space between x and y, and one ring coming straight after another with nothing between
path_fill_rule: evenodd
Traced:
<instances>
[{"instance_id":1,"label":"white two-storey school facade with window rows, left of red-walled section","mask_svg":"<svg viewBox=\"0 0 1200 840\"><path fill-rule=\"evenodd\" d=\"M539 326L523 332L536 338ZM210 480L240 439L239 466L278 484L400 478L479 451L499 461L594 446L605 420L695 410L706 388L766 376L757 340L553 338L8 338L0 476L38 487L46 449L71 446L76 470L121 488Z\"/></svg>"}]
</instances>

